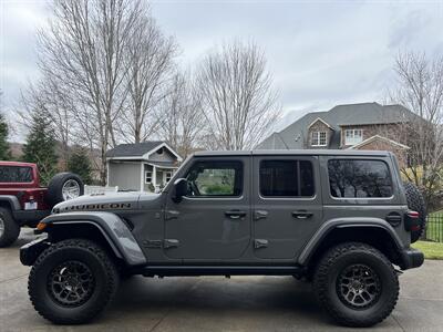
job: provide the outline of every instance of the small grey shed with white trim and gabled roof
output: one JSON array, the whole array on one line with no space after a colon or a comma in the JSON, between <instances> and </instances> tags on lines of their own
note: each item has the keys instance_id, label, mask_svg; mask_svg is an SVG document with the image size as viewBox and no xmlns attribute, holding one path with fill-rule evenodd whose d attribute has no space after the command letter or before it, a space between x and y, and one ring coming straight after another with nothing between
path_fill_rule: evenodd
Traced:
<instances>
[{"instance_id":1,"label":"small grey shed with white trim and gabled roof","mask_svg":"<svg viewBox=\"0 0 443 332\"><path fill-rule=\"evenodd\" d=\"M121 144L106 153L107 186L157 191L172 178L182 157L165 142Z\"/></svg>"}]
</instances>

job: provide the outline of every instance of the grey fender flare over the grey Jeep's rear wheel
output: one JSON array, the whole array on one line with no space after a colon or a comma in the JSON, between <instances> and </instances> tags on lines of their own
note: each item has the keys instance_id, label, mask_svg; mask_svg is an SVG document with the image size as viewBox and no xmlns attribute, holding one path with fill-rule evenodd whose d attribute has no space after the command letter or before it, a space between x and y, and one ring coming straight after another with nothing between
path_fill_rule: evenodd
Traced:
<instances>
[{"instance_id":1,"label":"grey fender flare over the grey Jeep's rear wheel","mask_svg":"<svg viewBox=\"0 0 443 332\"><path fill-rule=\"evenodd\" d=\"M340 228L381 228L385 230L389 236L393 239L395 247L399 251L403 250L403 245L388 221L379 218L336 218L330 219L324 222L312 236L312 238L307 242L305 248L302 249L300 256L298 257L297 262L301 266L306 266L309 262L311 256L316 252L318 247L321 245L321 241L334 229Z\"/></svg>"}]
</instances>

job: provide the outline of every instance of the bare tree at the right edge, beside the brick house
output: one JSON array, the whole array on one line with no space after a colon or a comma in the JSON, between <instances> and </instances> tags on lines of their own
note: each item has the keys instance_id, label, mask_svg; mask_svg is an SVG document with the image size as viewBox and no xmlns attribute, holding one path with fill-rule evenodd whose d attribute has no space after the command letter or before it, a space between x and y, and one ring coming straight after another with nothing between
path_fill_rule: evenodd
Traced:
<instances>
[{"instance_id":1,"label":"bare tree at the right edge, beside the brick house","mask_svg":"<svg viewBox=\"0 0 443 332\"><path fill-rule=\"evenodd\" d=\"M441 190L443 170L443 56L401 53L394 71L398 89L391 101L413 112L399 118L396 135L410 147L404 177L420 186L429 207Z\"/></svg>"}]
</instances>

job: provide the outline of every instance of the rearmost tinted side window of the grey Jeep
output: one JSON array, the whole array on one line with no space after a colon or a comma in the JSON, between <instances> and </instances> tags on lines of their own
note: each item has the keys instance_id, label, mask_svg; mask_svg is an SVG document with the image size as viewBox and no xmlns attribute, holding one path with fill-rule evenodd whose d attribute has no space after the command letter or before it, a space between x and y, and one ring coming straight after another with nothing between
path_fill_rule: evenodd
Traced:
<instances>
[{"instance_id":1,"label":"rearmost tinted side window of the grey Jeep","mask_svg":"<svg viewBox=\"0 0 443 332\"><path fill-rule=\"evenodd\" d=\"M388 165L382 160L330 159L329 186L337 198L383 198L393 194Z\"/></svg>"}]
</instances>

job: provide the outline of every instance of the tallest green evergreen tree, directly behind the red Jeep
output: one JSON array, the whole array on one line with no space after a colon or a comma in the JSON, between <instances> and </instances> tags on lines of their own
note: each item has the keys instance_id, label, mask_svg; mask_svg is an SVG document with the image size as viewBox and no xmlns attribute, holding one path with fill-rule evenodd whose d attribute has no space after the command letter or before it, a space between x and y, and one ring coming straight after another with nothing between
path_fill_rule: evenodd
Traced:
<instances>
[{"instance_id":1,"label":"tallest green evergreen tree, directly behind the red Jeep","mask_svg":"<svg viewBox=\"0 0 443 332\"><path fill-rule=\"evenodd\" d=\"M35 110L32 114L31 129L23 147L23 160L37 164L41 183L44 185L48 185L58 170L55 144L50 116L44 111Z\"/></svg>"}]
</instances>

